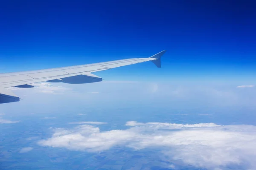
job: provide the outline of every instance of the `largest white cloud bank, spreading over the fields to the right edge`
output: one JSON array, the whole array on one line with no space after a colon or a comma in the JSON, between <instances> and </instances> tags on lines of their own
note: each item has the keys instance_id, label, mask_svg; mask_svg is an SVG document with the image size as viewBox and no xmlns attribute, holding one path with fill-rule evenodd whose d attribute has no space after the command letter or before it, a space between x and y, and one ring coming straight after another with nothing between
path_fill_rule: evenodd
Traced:
<instances>
[{"instance_id":1,"label":"largest white cloud bank, spreading over the fields to the right edge","mask_svg":"<svg viewBox=\"0 0 256 170\"><path fill-rule=\"evenodd\" d=\"M51 138L38 144L88 152L101 152L113 146L134 150L160 148L160 155L168 161L179 160L195 167L214 170L246 164L247 169L256 169L256 126L135 121L126 125L131 127L103 132L93 125L79 125L71 130L57 128Z\"/></svg>"}]
</instances>

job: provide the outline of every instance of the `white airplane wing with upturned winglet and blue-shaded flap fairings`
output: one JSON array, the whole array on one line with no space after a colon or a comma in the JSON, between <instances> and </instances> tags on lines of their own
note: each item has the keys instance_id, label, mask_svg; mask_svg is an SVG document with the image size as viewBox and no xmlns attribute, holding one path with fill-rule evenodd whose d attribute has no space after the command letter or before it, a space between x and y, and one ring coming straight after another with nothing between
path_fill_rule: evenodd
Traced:
<instances>
[{"instance_id":1,"label":"white airplane wing with upturned winglet and blue-shaded flap fairings","mask_svg":"<svg viewBox=\"0 0 256 170\"><path fill-rule=\"evenodd\" d=\"M20 101L18 96L16 96L11 90L6 89L9 87L33 88L34 86L29 84L44 81L64 82L70 84L100 82L102 81L102 78L92 74L93 72L147 61L153 62L158 68L160 68L160 59L165 52L166 50L161 51L149 58L121 59L71 67L0 74L0 103Z\"/></svg>"}]
</instances>

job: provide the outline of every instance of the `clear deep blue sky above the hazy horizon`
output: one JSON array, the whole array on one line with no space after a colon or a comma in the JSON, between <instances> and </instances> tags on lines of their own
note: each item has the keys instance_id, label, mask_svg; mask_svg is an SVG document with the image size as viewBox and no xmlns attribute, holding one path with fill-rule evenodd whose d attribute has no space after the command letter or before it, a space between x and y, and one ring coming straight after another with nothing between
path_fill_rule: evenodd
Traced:
<instances>
[{"instance_id":1,"label":"clear deep blue sky above the hazy horizon","mask_svg":"<svg viewBox=\"0 0 256 170\"><path fill-rule=\"evenodd\" d=\"M0 72L168 50L162 71L143 63L117 68L108 78L143 70L145 77L250 80L256 74L255 8L253 0L2 1Z\"/></svg>"}]
</instances>

